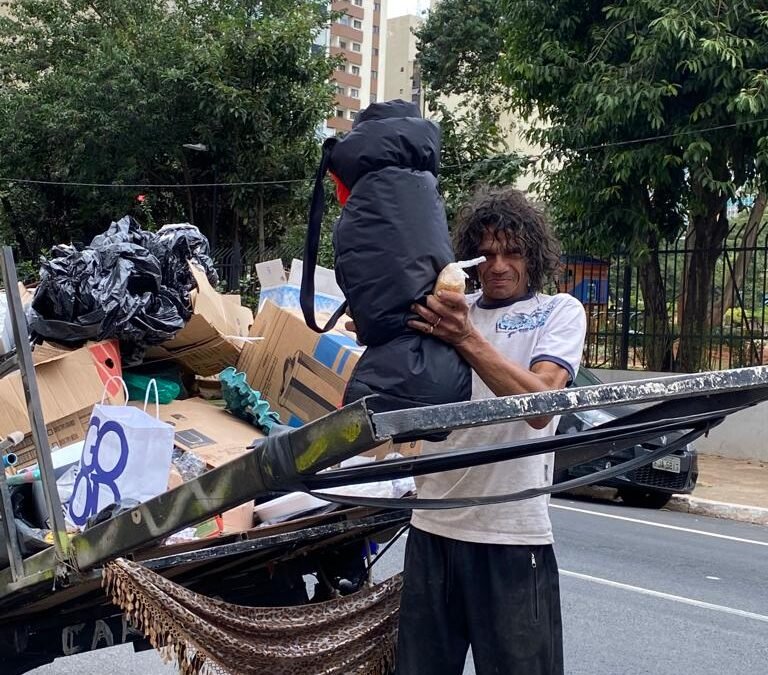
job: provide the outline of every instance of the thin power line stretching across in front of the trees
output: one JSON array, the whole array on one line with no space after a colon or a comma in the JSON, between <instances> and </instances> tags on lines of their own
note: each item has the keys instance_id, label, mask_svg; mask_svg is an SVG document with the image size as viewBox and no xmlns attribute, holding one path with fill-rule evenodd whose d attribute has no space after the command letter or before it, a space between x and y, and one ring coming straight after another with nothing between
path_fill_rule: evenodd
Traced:
<instances>
[{"instance_id":1,"label":"thin power line stretching across in front of the trees","mask_svg":"<svg viewBox=\"0 0 768 675\"><path fill-rule=\"evenodd\" d=\"M633 138L626 141L608 141L606 143L599 143L597 145L585 145L580 148L574 148L568 150L570 153L588 152L590 150L602 150L605 148L617 148L626 145L638 145L640 143L653 143L656 141L663 141L670 138L677 138L679 136L693 136L696 134L709 133L711 131L722 131L723 129L734 129L740 126L748 126L751 124L768 123L768 117L760 117L754 120L744 120L742 122L731 122L729 124L719 124L717 126L705 127L703 129L688 129L686 131L677 131L673 133L658 134L656 136L645 136L643 138ZM531 161L537 161L542 158L542 155L525 155L525 157ZM502 157L489 157L487 162L503 162L506 158ZM447 164L443 169L460 169L462 164ZM23 185L58 185L62 187L85 187L85 188L112 188L112 189L125 189L125 190L150 190L150 189L163 189L163 190L179 190L189 188L226 188L226 187L258 187L264 185L291 185L296 183L309 183L314 181L315 178L289 178L283 180L263 180L263 181L242 181L233 183L81 183L76 181L51 181L51 180L36 180L32 178L9 178L6 176L0 176L0 183L21 183Z\"/></svg>"}]
</instances>

